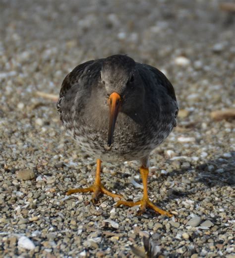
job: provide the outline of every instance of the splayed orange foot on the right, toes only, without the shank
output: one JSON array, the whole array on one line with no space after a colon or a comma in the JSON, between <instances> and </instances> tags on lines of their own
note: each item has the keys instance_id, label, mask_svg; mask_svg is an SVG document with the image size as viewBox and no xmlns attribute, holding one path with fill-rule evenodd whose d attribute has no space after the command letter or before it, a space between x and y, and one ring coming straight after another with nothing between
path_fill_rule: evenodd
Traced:
<instances>
[{"instance_id":1,"label":"splayed orange foot on the right, toes only, without the shank","mask_svg":"<svg viewBox=\"0 0 235 258\"><path fill-rule=\"evenodd\" d=\"M120 205L125 205L125 206L129 206L129 207L133 207L136 205L140 205L140 210L137 212L138 215L142 214L146 208L150 208L153 209L154 211L156 211L157 213L161 214L161 215L166 215L168 217L172 217L173 215L170 212L167 212L165 210L162 210L160 208L158 208L157 206L155 206L150 200L149 198L143 198L139 201L124 201L124 200L118 200L117 201L117 207Z\"/></svg>"}]
</instances>

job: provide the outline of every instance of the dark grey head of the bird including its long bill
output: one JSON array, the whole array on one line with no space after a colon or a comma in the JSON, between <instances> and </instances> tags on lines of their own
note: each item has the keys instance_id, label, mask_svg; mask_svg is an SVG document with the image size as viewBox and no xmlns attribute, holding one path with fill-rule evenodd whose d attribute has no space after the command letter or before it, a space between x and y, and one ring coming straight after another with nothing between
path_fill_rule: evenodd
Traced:
<instances>
[{"instance_id":1,"label":"dark grey head of the bird including its long bill","mask_svg":"<svg viewBox=\"0 0 235 258\"><path fill-rule=\"evenodd\" d=\"M144 86L135 61L122 55L114 55L104 60L100 79L109 106L108 147L110 147L113 143L118 113L122 112L135 118L143 105Z\"/></svg>"}]
</instances>

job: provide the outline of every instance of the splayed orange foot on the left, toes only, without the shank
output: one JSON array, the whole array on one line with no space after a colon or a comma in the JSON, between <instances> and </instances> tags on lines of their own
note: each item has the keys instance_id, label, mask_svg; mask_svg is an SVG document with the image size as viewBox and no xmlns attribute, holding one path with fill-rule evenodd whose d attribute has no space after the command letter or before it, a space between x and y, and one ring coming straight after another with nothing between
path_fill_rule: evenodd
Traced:
<instances>
[{"instance_id":1,"label":"splayed orange foot on the left, toes only, without the shank","mask_svg":"<svg viewBox=\"0 0 235 258\"><path fill-rule=\"evenodd\" d=\"M70 194L75 194L75 193L88 193L88 192L93 192L92 202L94 202L94 203L97 202L98 196L101 193L109 195L113 198L122 198L122 195L111 193L110 191L106 190L101 184L99 184L99 185L94 184L93 186L88 187L88 188L69 189L66 194L70 195Z\"/></svg>"}]
</instances>

